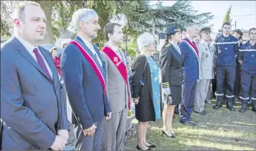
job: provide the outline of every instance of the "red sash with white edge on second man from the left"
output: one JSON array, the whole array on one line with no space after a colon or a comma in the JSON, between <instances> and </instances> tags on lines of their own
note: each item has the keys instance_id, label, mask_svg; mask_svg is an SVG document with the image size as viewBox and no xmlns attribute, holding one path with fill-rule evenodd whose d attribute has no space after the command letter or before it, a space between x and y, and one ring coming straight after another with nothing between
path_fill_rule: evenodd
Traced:
<instances>
[{"instance_id":1,"label":"red sash with white edge on second man from the left","mask_svg":"<svg viewBox=\"0 0 256 151\"><path fill-rule=\"evenodd\" d=\"M105 101L105 97L107 95L107 90L106 90L106 82L105 79L102 75L102 73L100 72L99 67L97 66L97 63L95 63L94 59L89 55L89 53L87 53L87 50L84 49L84 47L82 47L80 45L80 43L77 43L77 41L72 40L70 43L74 44L74 46L76 46L80 52L83 54L84 58L90 63L90 66L94 69L94 72L96 73L98 79L100 80L100 83L103 87L103 93L104 93L104 101Z\"/></svg>"}]
</instances>

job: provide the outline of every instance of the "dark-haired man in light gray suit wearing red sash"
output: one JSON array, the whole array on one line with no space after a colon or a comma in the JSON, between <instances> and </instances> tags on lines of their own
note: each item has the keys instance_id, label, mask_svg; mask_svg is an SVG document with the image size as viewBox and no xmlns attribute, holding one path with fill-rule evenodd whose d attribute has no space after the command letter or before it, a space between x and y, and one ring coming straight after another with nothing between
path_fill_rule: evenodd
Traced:
<instances>
[{"instance_id":1,"label":"dark-haired man in light gray suit wearing red sash","mask_svg":"<svg viewBox=\"0 0 256 151\"><path fill-rule=\"evenodd\" d=\"M107 92L112 116L105 121L103 150L123 150L126 117L130 109L130 85L127 79L126 58L120 49L123 31L120 24L108 23L104 27L107 44L101 55L107 69Z\"/></svg>"}]
</instances>

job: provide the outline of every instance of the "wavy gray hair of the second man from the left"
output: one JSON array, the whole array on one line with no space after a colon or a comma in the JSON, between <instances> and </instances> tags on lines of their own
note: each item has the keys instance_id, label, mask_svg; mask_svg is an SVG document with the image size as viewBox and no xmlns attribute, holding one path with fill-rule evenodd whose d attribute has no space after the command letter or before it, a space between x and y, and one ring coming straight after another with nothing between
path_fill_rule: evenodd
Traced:
<instances>
[{"instance_id":1,"label":"wavy gray hair of the second man from the left","mask_svg":"<svg viewBox=\"0 0 256 151\"><path fill-rule=\"evenodd\" d=\"M72 24L74 29L77 31L80 29L80 21L88 22L91 19L94 18L99 18L98 14L96 11L93 9L78 9L77 11L74 12L72 16Z\"/></svg>"}]
</instances>

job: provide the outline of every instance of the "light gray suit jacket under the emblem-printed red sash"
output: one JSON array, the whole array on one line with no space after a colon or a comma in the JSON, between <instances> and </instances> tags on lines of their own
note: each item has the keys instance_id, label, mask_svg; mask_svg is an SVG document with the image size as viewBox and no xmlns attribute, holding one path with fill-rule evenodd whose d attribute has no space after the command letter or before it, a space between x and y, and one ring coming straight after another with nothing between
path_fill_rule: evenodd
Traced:
<instances>
[{"instance_id":1,"label":"light gray suit jacket under the emblem-printed red sash","mask_svg":"<svg viewBox=\"0 0 256 151\"><path fill-rule=\"evenodd\" d=\"M129 89L127 90L126 82L117 69L117 66L113 64L106 53L102 51L100 51L100 53L107 68L107 93L110 101L110 108L112 113L117 113L124 108L128 108L128 93L130 93L130 86L128 85ZM122 56L120 59L124 60L124 64L126 65L123 51L120 51L120 54Z\"/></svg>"}]
</instances>

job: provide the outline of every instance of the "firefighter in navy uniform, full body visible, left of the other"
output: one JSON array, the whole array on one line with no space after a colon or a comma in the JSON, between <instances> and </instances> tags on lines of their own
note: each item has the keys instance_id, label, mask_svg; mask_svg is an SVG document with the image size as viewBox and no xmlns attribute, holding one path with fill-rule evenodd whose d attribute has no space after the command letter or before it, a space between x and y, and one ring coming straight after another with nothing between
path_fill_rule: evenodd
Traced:
<instances>
[{"instance_id":1,"label":"firefighter in navy uniform, full body visible, left of the other","mask_svg":"<svg viewBox=\"0 0 256 151\"><path fill-rule=\"evenodd\" d=\"M223 33L215 39L215 55L217 67L217 103L213 107L218 109L222 107L224 92L227 98L227 108L230 111L235 111L232 101L234 100L234 85L235 85L235 58L238 52L238 38L230 34L231 24L225 22L222 24ZM226 76L226 91L225 91L225 76Z\"/></svg>"}]
</instances>

